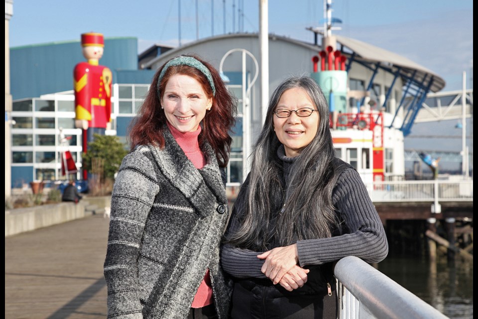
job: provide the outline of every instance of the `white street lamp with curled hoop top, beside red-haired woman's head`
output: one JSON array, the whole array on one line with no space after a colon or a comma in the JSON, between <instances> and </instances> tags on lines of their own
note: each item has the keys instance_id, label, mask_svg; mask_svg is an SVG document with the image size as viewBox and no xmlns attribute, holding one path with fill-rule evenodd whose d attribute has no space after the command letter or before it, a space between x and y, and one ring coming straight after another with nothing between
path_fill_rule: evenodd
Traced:
<instances>
[{"instance_id":1,"label":"white street lamp with curled hoop top, beside red-haired woman's head","mask_svg":"<svg viewBox=\"0 0 478 319\"><path fill-rule=\"evenodd\" d=\"M221 63L219 64L219 74L225 83L230 83L229 78L223 72L223 65L226 58L234 52L242 52L242 176L247 175L248 165L247 159L249 158L250 154L250 89L252 85L254 85L255 80L259 74L259 64L257 63L256 58L247 51L246 49L231 49L226 54L224 54L223 58L221 59ZM255 65L255 75L250 81L247 89L246 87L246 55L248 55Z\"/></svg>"}]
</instances>

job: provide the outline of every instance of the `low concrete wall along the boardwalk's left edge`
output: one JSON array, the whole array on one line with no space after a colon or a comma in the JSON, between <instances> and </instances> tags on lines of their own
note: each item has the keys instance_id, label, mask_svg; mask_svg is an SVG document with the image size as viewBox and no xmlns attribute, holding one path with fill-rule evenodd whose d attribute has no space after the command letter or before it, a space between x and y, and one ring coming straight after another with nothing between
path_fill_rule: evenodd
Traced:
<instances>
[{"instance_id":1,"label":"low concrete wall along the boardwalk's left edge","mask_svg":"<svg viewBox=\"0 0 478 319\"><path fill-rule=\"evenodd\" d=\"M78 204L62 202L5 210L5 237L92 214L103 214L105 207L109 207L110 204L111 196L84 197Z\"/></svg>"}]
</instances>

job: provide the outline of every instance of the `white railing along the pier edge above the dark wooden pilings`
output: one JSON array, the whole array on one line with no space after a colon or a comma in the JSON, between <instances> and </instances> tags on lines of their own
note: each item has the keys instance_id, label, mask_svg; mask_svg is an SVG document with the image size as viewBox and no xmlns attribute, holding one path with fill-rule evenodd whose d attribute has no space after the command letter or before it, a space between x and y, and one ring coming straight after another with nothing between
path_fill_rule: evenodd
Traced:
<instances>
[{"instance_id":1,"label":"white railing along the pier edge above the dark wooden pilings","mask_svg":"<svg viewBox=\"0 0 478 319\"><path fill-rule=\"evenodd\" d=\"M365 186L373 202L473 201L473 179L384 181Z\"/></svg>"}]
</instances>

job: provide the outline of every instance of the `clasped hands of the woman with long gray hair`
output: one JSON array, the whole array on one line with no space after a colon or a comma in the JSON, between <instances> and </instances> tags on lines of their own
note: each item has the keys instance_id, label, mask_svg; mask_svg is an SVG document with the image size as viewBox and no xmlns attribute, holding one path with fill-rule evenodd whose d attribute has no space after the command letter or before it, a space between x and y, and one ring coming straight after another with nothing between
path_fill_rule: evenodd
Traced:
<instances>
[{"instance_id":1,"label":"clasped hands of the woman with long gray hair","mask_svg":"<svg viewBox=\"0 0 478 319\"><path fill-rule=\"evenodd\" d=\"M297 244L277 247L266 251L257 258L263 259L262 273L275 284L280 284L287 291L304 286L309 269L301 268Z\"/></svg>"}]
</instances>

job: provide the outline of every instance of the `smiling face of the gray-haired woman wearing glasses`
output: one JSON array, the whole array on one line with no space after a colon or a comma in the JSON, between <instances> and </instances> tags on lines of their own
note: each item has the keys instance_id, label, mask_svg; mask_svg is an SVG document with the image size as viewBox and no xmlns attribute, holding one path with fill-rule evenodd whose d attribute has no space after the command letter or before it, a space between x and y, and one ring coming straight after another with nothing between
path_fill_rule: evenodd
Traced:
<instances>
[{"instance_id":1,"label":"smiling face of the gray-haired woman wearing glasses","mask_svg":"<svg viewBox=\"0 0 478 319\"><path fill-rule=\"evenodd\" d=\"M295 111L300 108L317 109L304 89L292 88L282 93L274 111ZM274 114L273 118L275 134L284 145L287 157L298 156L301 150L312 142L319 127L319 112L312 112L308 117L299 117L296 112L292 112L287 118L279 118Z\"/></svg>"}]
</instances>

